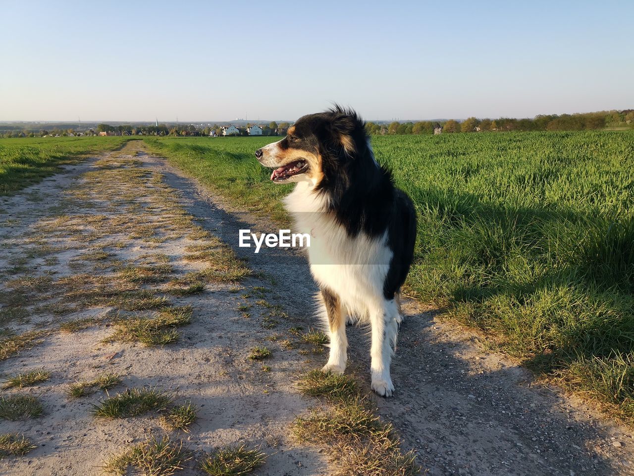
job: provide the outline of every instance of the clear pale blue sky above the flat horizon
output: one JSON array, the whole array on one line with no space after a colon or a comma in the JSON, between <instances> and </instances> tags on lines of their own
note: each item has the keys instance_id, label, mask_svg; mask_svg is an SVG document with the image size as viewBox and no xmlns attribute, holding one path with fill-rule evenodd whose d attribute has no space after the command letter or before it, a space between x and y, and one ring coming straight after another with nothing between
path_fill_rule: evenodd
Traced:
<instances>
[{"instance_id":1,"label":"clear pale blue sky above the flat horizon","mask_svg":"<svg viewBox=\"0 0 634 476\"><path fill-rule=\"evenodd\" d=\"M634 108L634 1L0 0L0 120Z\"/></svg>"}]
</instances>

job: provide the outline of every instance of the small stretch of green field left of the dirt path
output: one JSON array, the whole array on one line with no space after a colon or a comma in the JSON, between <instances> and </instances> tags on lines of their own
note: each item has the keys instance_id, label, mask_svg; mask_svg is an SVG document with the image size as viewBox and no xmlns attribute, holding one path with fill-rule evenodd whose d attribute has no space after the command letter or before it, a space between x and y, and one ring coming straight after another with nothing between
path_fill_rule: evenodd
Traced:
<instances>
[{"instance_id":1,"label":"small stretch of green field left of the dirt path","mask_svg":"<svg viewBox=\"0 0 634 476\"><path fill-rule=\"evenodd\" d=\"M10 195L86 154L113 150L125 137L46 137L0 140L0 195Z\"/></svg>"}]
</instances>

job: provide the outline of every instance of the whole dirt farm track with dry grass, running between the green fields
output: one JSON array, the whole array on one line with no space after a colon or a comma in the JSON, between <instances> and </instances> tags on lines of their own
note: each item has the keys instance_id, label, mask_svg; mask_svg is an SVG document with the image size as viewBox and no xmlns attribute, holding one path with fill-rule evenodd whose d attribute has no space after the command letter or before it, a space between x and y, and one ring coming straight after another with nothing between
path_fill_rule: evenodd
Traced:
<instances>
[{"instance_id":1,"label":"whole dirt farm track with dry grass, running between the green fields","mask_svg":"<svg viewBox=\"0 0 634 476\"><path fill-rule=\"evenodd\" d=\"M0 372L51 371L44 383L3 391L36 396L44 413L0 420L0 433L25 433L37 445L0 460L0 473L100 474L104 458L150 434L182 439L196 458L227 444L260 445L268 459L259 474L328 472L323 453L289 435L294 416L315 404L297 393L295 376L326 359L288 333L316 325L306 260L288 249L254 255L235 246L238 229L276 231L271 223L239 213L163 159L134 150L68 168L3 199L0 223L1 324L41 333L1 360ZM216 237L256 275L233 284L243 267ZM170 329L179 334L170 345L145 347L129 334L112 340L117 313L173 314L184 306L191 323ZM432 310L414 301L404 309L393 364L397 392L375 401L430 475L634 474L628 430L535 385ZM74 332L58 330L69 321ZM349 328L349 338L347 372L369 388L365 332ZM273 356L250 360L250 349L263 345ZM71 383L105 372L120 374L121 385L68 397ZM165 430L153 413L92 416L91 404L148 385L198 407L190 433Z\"/></svg>"}]
</instances>

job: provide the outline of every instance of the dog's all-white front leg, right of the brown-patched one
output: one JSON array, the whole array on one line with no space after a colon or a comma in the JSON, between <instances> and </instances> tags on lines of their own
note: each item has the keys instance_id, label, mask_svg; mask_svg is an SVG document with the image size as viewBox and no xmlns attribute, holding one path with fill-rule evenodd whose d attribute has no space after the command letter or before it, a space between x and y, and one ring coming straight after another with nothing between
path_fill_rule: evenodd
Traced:
<instances>
[{"instance_id":1,"label":"dog's all-white front leg, right of the brown-patched one","mask_svg":"<svg viewBox=\"0 0 634 476\"><path fill-rule=\"evenodd\" d=\"M371 387L378 395L385 397L390 397L394 392L390 364L398 336L398 315L398 306L394 300L383 301L381 305L370 310L370 325L372 326Z\"/></svg>"}]
</instances>

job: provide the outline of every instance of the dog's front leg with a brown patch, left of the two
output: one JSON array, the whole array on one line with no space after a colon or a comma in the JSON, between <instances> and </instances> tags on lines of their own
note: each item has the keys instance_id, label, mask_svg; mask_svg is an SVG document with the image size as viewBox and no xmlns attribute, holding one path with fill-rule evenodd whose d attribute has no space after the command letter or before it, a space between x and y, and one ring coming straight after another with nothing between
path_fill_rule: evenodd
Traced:
<instances>
[{"instance_id":1,"label":"dog's front leg with a brown patch, left of the two","mask_svg":"<svg viewBox=\"0 0 634 476\"><path fill-rule=\"evenodd\" d=\"M321 314L327 321L330 336L330 355L323 372L344 373L346 370L348 341L346 338L346 316L342 312L339 296L329 289L321 289Z\"/></svg>"}]
</instances>

